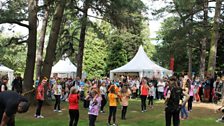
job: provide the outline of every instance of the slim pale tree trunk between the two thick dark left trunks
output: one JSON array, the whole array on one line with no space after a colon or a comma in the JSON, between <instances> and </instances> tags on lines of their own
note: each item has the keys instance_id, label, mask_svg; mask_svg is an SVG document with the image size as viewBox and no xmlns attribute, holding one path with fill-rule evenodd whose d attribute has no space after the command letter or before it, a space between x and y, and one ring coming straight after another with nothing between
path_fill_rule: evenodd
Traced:
<instances>
[{"instance_id":1,"label":"slim pale tree trunk between the two thick dark left trunks","mask_svg":"<svg viewBox=\"0 0 224 126\"><path fill-rule=\"evenodd\" d=\"M36 79L40 78L41 76L41 68L43 65L44 40L47 30L48 17L49 17L49 4L47 3L47 7L45 9L44 18L42 22L42 28L40 31L39 46L37 49Z\"/></svg>"}]
</instances>

